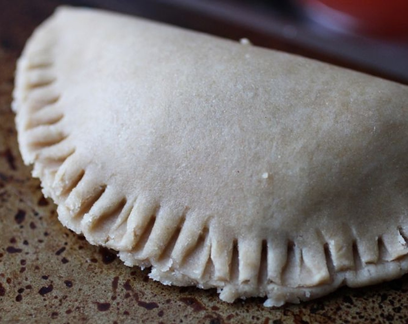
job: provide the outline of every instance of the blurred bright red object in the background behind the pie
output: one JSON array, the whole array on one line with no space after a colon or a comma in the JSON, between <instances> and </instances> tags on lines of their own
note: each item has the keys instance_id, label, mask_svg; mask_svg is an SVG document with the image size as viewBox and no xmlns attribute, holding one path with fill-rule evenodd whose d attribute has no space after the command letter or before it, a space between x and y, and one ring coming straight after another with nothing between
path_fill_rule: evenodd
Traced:
<instances>
[{"instance_id":1,"label":"blurred bright red object in the background behind the pie","mask_svg":"<svg viewBox=\"0 0 408 324\"><path fill-rule=\"evenodd\" d=\"M377 37L408 39L407 0L300 0L319 23Z\"/></svg>"}]
</instances>

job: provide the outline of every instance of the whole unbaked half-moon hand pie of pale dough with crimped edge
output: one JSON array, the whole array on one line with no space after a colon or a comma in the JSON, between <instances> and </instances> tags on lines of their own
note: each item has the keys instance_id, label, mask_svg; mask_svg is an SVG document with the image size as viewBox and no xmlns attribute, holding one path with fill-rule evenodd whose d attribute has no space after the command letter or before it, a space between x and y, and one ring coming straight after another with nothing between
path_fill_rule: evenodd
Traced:
<instances>
[{"instance_id":1,"label":"whole unbaked half-moon hand pie of pale dough with crimped edge","mask_svg":"<svg viewBox=\"0 0 408 324\"><path fill-rule=\"evenodd\" d=\"M164 284L279 306L408 271L407 86L62 7L13 109L61 223Z\"/></svg>"}]
</instances>

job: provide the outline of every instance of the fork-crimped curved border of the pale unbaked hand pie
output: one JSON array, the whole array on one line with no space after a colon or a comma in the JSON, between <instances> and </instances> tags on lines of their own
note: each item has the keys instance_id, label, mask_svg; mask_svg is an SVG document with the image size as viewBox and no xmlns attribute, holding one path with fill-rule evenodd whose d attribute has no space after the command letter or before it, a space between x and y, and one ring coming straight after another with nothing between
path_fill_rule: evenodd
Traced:
<instances>
[{"instance_id":1,"label":"fork-crimped curved border of the pale unbaked hand pie","mask_svg":"<svg viewBox=\"0 0 408 324\"><path fill-rule=\"evenodd\" d=\"M296 240L284 237L281 246L268 238L235 238L225 244L229 249L221 251L213 242L224 238L213 232L211 219L188 223L187 208L170 215L160 203L145 201L142 195L124 196L109 186L108 179L95 180L92 168L81 165L63 125L59 101L64 94L53 69L52 42L36 48L35 35L18 61L16 75L13 110L20 150L24 162L34 164L33 176L41 179L44 194L58 204L61 222L84 233L92 244L120 251L129 266L153 266L151 278L164 284L216 287L228 302L267 295L265 306L313 299L343 284L364 286L407 272L407 235L402 227L379 236L370 251L359 245L347 225L343 229L349 237L346 245L316 231L319 247L300 247ZM191 231L193 226L199 229ZM309 271L309 282L286 286L285 273L294 269Z\"/></svg>"}]
</instances>

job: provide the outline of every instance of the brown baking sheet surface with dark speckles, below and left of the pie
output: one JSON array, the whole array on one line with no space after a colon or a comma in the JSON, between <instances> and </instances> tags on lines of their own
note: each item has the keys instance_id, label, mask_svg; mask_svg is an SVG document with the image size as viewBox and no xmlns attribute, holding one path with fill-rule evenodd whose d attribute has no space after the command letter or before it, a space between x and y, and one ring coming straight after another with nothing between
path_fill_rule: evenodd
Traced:
<instances>
[{"instance_id":1,"label":"brown baking sheet surface with dark speckles, below and left of the pie","mask_svg":"<svg viewBox=\"0 0 408 324\"><path fill-rule=\"evenodd\" d=\"M1 323L408 323L407 276L280 309L260 298L226 304L213 290L153 282L62 227L22 164L10 109L16 59L57 4L16 1L0 11Z\"/></svg>"}]
</instances>

